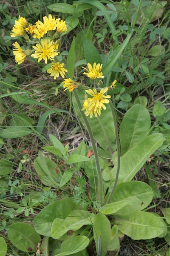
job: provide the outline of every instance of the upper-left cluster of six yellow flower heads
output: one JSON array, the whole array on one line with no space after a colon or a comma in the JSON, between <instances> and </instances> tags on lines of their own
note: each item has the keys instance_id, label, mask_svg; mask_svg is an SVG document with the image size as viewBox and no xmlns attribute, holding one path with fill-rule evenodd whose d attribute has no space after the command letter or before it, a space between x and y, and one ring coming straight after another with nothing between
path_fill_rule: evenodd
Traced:
<instances>
[{"instance_id":1,"label":"upper-left cluster of six yellow flower heads","mask_svg":"<svg viewBox=\"0 0 170 256\"><path fill-rule=\"evenodd\" d=\"M54 79L59 77L65 77L67 69L64 68L64 63L54 61L55 56L59 54L59 35L63 32L67 32L67 26L65 21L60 18L52 17L51 14L43 17L42 21L37 21L35 24L29 24L25 18L19 17L15 21L12 28L11 37L23 36L24 39L31 44L35 44L31 49L23 50L20 45L15 42L13 54L15 61L20 65L26 59L26 56L31 56L38 59L40 62L42 59L47 64L48 60L53 61L51 68L48 68L47 72L51 74Z\"/></svg>"}]
</instances>

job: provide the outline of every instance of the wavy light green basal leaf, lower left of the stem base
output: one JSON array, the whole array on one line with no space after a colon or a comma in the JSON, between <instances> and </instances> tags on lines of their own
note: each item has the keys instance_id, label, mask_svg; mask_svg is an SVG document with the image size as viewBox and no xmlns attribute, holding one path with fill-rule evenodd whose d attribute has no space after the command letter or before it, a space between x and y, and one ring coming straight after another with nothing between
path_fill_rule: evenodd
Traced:
<instances>
[{"instance_id":1,"label":"wavy light green basal leaf, lower left of the stem base","mask_svg":"<svg viewBox=\"0 0 170 256\"><path fill-rule=\"evenodd\" d=\"M59 239L68 230L76 231L84 225L92 225L92 217L88 211L74 210L64 220L56 218L51 227L51 236Z\"/></svg>"}]
</instances>

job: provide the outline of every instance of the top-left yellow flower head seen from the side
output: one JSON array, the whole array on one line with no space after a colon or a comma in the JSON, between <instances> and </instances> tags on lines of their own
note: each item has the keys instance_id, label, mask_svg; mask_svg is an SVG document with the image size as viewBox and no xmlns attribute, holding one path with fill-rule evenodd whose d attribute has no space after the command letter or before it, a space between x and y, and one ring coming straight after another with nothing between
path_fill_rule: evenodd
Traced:
<instances>
[{"instance_id":1,"label":"top-left yellow flower head seen from the side","mask_svg":"<svg viewBox=\"0 0 170 256\"><path fill-rule=\"evenodd\" d=\"M28 22L26 21L26 19L19 16L19 19L15 20L15 24L12 28L13 33L11 33L11 37L24 35L24 27L27 25Z\"/></svg>"}]
</instances>

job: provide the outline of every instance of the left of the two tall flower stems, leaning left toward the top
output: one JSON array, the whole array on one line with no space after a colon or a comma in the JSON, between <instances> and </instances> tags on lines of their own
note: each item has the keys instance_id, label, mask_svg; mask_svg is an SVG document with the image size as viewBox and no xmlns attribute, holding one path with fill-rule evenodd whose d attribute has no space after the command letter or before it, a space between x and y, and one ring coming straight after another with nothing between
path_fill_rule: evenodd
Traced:
<instances>
[{"instance_id":1,"label":"left of the two tall flower stems, leaning left toward the top","mask_svg":"<svg viewBox=\"0 0 170 256\"><path fill-rule=\"evenodd\" d=\"M86 125L86 127L88 129L88 134L89 134L90 139L91 139L91 144L92 144L92 147L93 147L94 158L95 158L95 162L96 162L97 175L98 175L98 199L100 200L100 203L102 205L102 201L103 201L102 200L102 194L103 194L102 172L100 170L99 156L98 156L96 144L95 144L95 141L94 141L93 132L91 130L91 127L90 127L90 124L88 122L88 119L85 116L85 113L82 111L82 105L81 105L81 102L79 100L79 96L77 94L77 91L74 90L73 93L74 93L75 99L77 101L77 105L78 105L79 111L80 111L80 113L82 115L83 120L85 121L85 125Z\"/></svg>"}]
</instances>

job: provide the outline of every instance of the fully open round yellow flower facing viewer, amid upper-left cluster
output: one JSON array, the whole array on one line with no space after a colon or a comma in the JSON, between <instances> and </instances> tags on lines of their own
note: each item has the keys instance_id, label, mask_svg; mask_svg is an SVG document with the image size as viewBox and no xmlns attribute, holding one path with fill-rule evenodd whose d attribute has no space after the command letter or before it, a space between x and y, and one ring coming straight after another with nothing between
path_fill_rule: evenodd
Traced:
<instances>
[{"instance_id":1,"label":"fully open round yellow flower facing viewer, amid upper-left cluster","mask_svg":"<svg viewBox=\"0 0 170 256\"><path fill-rule=\"evenodd\" d=\"M47 59L53 60L58 55L53 41L50 41L50 39L41 39L41 43L36 44L33 48L35 49L35 53L31 54L31 57L39 58L38 62L44 59L45 64L47 64Z\"/></svg>"}]
</instances>

